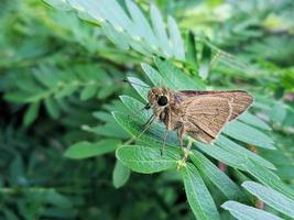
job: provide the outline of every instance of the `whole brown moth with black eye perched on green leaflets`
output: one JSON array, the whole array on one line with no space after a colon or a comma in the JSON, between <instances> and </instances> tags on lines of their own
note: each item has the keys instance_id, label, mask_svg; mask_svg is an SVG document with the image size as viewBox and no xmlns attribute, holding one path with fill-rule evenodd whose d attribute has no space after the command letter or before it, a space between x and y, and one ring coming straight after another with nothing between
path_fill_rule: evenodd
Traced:
<instances>
[{"instance_id":1,"label":"whole brown moth with black eye perched on green leaflets","mask_svg":"<svg viewBox=\"0 0 294 220\"><path fill-rule=\"evenodd\" d=\"M151 88L148 94L149 103L144 109L152 109L153 116L145 123L143 132L157 119L168 131L176 130L179 145L183 147L186 135L203 143L213 143L221 129L235 120L252 105L253 97L243 90L228 91L174 91L168 88Z\"/></svg>"}]
</instances>

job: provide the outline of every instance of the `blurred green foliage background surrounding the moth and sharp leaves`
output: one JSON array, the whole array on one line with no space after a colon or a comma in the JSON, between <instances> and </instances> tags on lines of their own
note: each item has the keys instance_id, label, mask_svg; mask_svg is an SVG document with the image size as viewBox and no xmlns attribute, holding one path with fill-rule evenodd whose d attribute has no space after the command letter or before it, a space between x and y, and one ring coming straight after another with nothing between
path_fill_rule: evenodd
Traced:
<instances>
[{"instance_id":1,"label":"blurred green foliage background surrounding the moth and sharp leaves","mask_svg":"<svg viewBox=\"0 0 294 220\"><path fill-rule=\"evenodd\" d=\"M216 68L199 70L204 84L246 88L264 105L266 114L258 116L272 127L277 152L259 154L293 188L293 0L152 2L163 18L174 16L184 38L209 40L202 64L209 54ZM137 3L149 14L149 1ZM110 112L126 111L118 96L135 95L122 78L144 78L140 62L150 57L39 0L1 0L0 30L0 219L194 219L174 173L128 179L116 162L116 146L129 135ZM76 143L110 147L67 158Z\"/></svg>"}]
</instances>

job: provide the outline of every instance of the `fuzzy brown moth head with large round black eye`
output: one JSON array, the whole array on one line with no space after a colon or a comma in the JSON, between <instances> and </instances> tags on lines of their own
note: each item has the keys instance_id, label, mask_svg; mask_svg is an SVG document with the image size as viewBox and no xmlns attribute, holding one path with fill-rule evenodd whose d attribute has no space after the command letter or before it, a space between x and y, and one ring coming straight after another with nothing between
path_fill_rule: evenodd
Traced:
<instances>
[{"instance_id":1,"label":"fuzzy brown moth head with large round black eye","mask_svg":"<svg viewBox=\"0 0 294 220\"><path fill-rule=\"evenodd\" d=\"M168 105L168 90L164 88L152 88L148 92L148 100L152 107L165 107Z\"/></svg>"}]
</instances>

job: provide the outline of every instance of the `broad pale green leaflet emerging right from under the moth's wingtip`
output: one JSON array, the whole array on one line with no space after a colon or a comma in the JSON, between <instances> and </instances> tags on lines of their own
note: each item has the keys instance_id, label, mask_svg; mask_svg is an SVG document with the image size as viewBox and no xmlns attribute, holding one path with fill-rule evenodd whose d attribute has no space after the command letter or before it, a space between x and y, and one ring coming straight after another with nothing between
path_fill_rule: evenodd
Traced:
<instances>
[{"instance_id":1,"label":"broad pale green leaflet emerging right from under the moth's wingtip","mask_svg":"<svg viewBox=\"0 0 294 220\"><path fill-rule=\"evenodd\" d=\"M263 148L275 150L273 141L270 136L239 121L233 121L232 123L226 125L224 133L248 144Z\"/></svg>"}]
</instances>

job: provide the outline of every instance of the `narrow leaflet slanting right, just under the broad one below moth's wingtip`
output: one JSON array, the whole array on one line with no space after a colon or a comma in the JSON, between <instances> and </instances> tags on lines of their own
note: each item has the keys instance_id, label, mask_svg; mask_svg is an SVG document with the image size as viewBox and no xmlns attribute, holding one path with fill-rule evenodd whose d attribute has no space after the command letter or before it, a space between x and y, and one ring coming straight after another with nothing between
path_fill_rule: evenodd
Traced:
<instances>
[{"instance_id":1,"label":"narrow leaflet slanting right, just under the broad one below moth's wingtip","mask_svg":"<svg viewBox=\"0 0 294 220\"><path fill-rule=\"evenodd\" d=\"M263 157L259 156L258 154L247 150L246 147L240 146L239 144L237 144L236 142L226 138L225 135L219 135L217 141L216 141L216 144L218 146L220 146L221 148L224 148L230 153L233 153L235 155L238 155L238 156L244 157L244 158L250 158L250 160L257 162L258 164L260 164L266 168L276 169L275 166L271 162L269 162L269 161L264 160Z\"/></svg>"}]
</instances>

